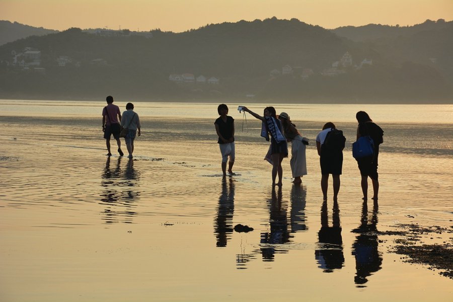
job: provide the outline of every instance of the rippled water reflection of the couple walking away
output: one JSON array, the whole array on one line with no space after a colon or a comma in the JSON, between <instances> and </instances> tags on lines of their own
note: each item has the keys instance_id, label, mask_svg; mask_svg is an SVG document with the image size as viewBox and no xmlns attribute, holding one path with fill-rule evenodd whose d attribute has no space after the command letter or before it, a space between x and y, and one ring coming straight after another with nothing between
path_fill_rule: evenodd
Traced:
<instances>
[{"instance_id":1,"label":"rippled water reflection of the couple walking away","mask_svg":"<svg viewBox=\"0 0 453 302\"><path fill-rule=\"evenodd\" d=\"M126 167L122 169L121 160L119 157L111 162L111 157L108 157L102 175L101 186L104 189L100 204L106 206L102 211L105 223L121 220L132 223L132 217L136 214L133 208L140 195L137 191L139 172L134 168L133 160L128 160Z\"/></svg>"}]
</instances>

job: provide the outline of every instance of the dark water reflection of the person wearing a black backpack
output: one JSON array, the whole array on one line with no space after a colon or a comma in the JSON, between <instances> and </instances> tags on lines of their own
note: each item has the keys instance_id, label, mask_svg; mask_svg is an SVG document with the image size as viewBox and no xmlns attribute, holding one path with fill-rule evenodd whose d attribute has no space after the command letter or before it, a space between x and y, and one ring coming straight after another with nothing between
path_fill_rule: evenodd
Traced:
<instances>
[{"instance_id":1,"label":"dark water reflection of the person wearing a black backpack","mask_svg":"<svg viewBox=\"0 0 453 302\"><path fill-rule=\"evenodd\" d=\"M322 249L315 251L315 259L318 261L319 268L324 269L325 273L341 269L344 263L338 202L334 202L332 226L329 226L328 220L327 201L324 200L321 207L321 229L318 232Z\"/></svg>"}]
</instances>

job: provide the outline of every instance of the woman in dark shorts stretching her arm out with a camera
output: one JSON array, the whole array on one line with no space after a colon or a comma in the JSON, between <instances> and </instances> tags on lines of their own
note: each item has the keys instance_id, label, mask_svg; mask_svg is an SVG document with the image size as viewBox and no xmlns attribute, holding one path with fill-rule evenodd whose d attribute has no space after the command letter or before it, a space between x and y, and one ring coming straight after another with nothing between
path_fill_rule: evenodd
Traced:
<instances>
[{"instance_id":1,"label":"woman in dark shorts stretching her arm out with a camera","mask_svg":"<svg viewBox=\"0 0 453 302\"><path fill-rule=\"evenodd\" d=\"M281 180L283 177L281 162L283 161L283 158L288 157L288 144L286 143L286 138L282 134L283 125L281 121L277 119L275 108L264 108L264 116L252 112L245 106L242 106L242 110L250 113L252 116L263 122L261 126L261 136L266 138L267 141L269 141L270 134L271 145L268 153L270 153L269 162L272 164L272 186L275 186L275 178L278 174L277 186L281 187ZM268 160L267 156L265 160Z\"/></svg>"}]
</instances>

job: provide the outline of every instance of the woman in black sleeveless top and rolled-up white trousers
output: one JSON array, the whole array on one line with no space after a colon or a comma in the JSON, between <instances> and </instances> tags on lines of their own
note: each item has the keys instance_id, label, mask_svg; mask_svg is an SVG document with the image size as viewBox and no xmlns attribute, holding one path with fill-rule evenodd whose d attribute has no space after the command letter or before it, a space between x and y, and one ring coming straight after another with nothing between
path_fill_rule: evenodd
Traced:
<instances>
[{"instance_id":1,"label":"woman in black sleeveless top and rolled-up white trousers","mask_svg":"<svg viewBox=\"0 0 453 302\"><path fill-rule=\"evenodd\" d=\"M228 106L220 104L217 107L218 115L220 115L214 122L215 132L217 132L217 143L220 147L222 155L222 172L223 177L226 176L226 162L230 157L228 165L228 174L236 175L233 173L233 165L235 164L235 119L228 116Z\"/></svg>"}]
</instances>

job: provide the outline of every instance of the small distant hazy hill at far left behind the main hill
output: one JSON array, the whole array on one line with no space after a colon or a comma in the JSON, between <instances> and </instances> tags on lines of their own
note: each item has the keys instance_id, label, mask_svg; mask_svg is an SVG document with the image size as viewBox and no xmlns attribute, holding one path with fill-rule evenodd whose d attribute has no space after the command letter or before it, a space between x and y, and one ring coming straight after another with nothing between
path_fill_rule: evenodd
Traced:
<instances>
[{"instance_id":1,"label":"small distant hazy hill at far left behind the main hill","mask_svg":"<svg viewBox=\"0 0 453 302\"><path fill-rule=\"evenodd\" d=\"M33 35L43 36L56 32L58 31L0 20L0 45Z\"/></svg>"}]
</instances>

